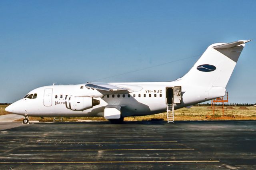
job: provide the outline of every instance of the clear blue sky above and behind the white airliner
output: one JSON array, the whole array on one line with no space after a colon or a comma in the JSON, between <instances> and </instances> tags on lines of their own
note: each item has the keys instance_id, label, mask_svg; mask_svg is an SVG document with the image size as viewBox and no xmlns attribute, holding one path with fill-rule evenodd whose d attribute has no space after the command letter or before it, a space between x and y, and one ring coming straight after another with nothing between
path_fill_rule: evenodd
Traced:
<instances>
[{"instance_id":1,"label":"clear blue sky above and behind the white airliner","mask_svg":"<svg viewBox=\"0 0 256 170\"><path fill-rule=\"evenodd\" d=\"M248 39L254 40L226 89L232 103L256 103L255 6L254 0L2 0L0 103L53 82L171 81L208 45Z\"/></svg>"}]
</instances>

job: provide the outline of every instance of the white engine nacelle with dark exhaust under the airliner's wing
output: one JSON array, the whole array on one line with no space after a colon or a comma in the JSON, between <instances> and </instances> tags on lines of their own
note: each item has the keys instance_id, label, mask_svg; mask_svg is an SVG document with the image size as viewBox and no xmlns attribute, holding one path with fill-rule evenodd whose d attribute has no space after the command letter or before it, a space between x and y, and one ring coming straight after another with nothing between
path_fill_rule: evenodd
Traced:
<instances>
[{"instance_id":1,"label":"white engine nacelle with dark exhaust under the airliner's wing","mask_svg":"<svg viewBox=\"0 0 256 170\"><path fill-rule=\"evenodd\" d=\"M87 96L67 96L65 103L66 108L72 111L84 111L99 105L100 101Z\"/></svg>"}]
</instances>

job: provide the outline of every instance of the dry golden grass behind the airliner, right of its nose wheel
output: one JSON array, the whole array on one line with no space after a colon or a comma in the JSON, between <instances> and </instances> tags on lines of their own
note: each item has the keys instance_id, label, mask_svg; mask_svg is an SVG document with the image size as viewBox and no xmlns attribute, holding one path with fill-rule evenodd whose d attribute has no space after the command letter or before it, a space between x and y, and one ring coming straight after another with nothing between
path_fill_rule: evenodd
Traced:
<instances>
[{"instance_id":1,"label":"dry golden grass behind the airliner, right of its nose wheel","mask_svg":"<svg viewBox=\"0 0 256 170\"><path fill-rule=\"evenodd\" d=\"M53 118L30 117L31 121L53 121ZM20 119L19 121L21 121ZM63 121L106 121L102 117L64 117ZM167 121L166 113L156 115L126 117L124 121ZM209 106L193 106L190 109L182 108L175 111L174 121L202 121L202 120L256 120L256 107L228 107L228 113L222 117L222 108L217 107L215 117L212 117L212 110Z\"/></svg>"}]
</instances>

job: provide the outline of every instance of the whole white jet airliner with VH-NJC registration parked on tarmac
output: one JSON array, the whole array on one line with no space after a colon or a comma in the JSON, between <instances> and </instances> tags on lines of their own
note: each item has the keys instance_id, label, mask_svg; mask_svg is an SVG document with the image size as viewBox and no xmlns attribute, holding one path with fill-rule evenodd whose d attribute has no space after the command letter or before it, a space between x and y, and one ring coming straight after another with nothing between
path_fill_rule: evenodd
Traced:
<instances>
[{"instance_id":1,"label":"whole white jet airliner with VH-NJC registration parked on tarmac","mask_svg":"<svg viewBox=\"0 0 256 170\"><path fill-rule=\"evenodd\" d=\"M189 107L225 95L226 85L246 42L210 45L183 77L171 82L51 85L30 91L6 111L28 117L124 117ZM173 119L173 117L172 117ZM172 120L173 121L173 120Z\"/></svg>"}]
</instances>

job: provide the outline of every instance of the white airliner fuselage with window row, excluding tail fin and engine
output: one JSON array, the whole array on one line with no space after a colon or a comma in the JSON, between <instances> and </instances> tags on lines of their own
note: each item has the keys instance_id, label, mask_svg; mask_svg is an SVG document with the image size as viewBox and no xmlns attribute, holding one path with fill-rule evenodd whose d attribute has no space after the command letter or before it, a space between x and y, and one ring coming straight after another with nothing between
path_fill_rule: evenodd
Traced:
<instances>
[{"instance_id":1,"label":"white airliner fuselage with window row, excluding tail fin and engine","mask_svg":"<svg viewBox=\"0 0 256 170\"><path fill-rule=\"evenodd\" d=\"M209 96L210 89L181 85L179 81L156 82L156 83L113 83L118 85L134 85L138 91L127 94L109 94L102 96L96 89L86 88L79 85L52 85L34 89L28 93L37 94L36 99L23 98L12 104L11 112L18 115L36 117L104 117L104 108L121 106L122 117L141 116L162 113L166 111L166 88L182 86L182 102L174 104L174 109L194 105L208 101L215 97ZM52 89L50 101L46 105L44 93L46 89ZM193 90L188 90L193 89ZM206 92L207 91L207 94ZM225 91L225 89L222 89ZM220 95L220 94L218 94ZM73 111L66 107L66 96L91 96L100 101L90 109Z\"/></svg>"}]
</instances>

